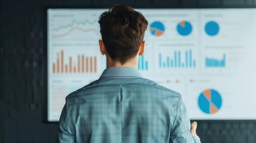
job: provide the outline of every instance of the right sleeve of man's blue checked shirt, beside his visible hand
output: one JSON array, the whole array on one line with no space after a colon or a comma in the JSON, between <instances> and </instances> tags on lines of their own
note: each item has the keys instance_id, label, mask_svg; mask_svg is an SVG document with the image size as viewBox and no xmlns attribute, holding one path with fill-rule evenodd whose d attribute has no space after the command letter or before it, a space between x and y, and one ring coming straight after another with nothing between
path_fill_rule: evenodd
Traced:
<instances>
[{"instance_id":1,"label":"right sleeve of man's blue checked shirt, beside his visible hand","mask_svg":"<svg viewBox=\"0 0 256 143\"><path fill-rule=\"evenodd\" d=\"M170 143L200 143L190 133L190 119L182 98L176 107L176 117L170 130Z\"/></svg>"}]
</instances>

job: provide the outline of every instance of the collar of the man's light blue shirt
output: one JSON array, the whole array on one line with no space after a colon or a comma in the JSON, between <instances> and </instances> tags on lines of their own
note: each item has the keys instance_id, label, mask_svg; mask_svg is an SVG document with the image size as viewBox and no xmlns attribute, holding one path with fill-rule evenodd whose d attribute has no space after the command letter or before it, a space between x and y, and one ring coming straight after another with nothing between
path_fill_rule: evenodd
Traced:
<instances>
[{"instance_id":1,"label":"collar of the man's light blue shirt","mask_svg":"<svg viewBox=\"0 0 256 143\"><path fill-rule=\"evenodd\" d=\"M137 69L132 67L108 67L103 71L100 77L109 76L138 76L142 77Z\"/></svg>"}]
</instances>

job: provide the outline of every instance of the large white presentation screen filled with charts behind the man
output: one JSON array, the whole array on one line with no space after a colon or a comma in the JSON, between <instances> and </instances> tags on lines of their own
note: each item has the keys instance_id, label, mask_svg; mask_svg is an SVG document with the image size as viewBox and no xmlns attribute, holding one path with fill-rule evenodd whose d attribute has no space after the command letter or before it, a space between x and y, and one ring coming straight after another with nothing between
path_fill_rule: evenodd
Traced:
<instances>
[{"instance_id":1,"label":"large white presentation screen filled with charts behind the man","mask_svg":"<svg viewBox=\"0 0 256 143\"><path fill-rule=\"evenodd\" d=\"M106 10L47 10L48 121L106 69L98 45ZM143 77L179 92L193 120L256 119L255 8L137 10L148 20Z\"/></svg>"}]
</instances>

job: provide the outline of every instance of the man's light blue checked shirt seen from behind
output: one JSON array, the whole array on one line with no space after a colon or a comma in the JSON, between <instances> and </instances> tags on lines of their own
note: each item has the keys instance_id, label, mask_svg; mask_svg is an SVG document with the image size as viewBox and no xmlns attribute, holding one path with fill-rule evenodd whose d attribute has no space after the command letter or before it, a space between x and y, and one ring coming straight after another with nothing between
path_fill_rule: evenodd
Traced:
<instances>
[{"instance_id":1,"label":"man's light blue checked shirt seen from behind","mask_svg":"<svg viewBox=\"0 0 256 143\"><path fill-rule=\"evenodd\" d=\"M109 67L66 97L59 142L200 142L178 92L130 67Z\"/></svg>"}]
</instances>

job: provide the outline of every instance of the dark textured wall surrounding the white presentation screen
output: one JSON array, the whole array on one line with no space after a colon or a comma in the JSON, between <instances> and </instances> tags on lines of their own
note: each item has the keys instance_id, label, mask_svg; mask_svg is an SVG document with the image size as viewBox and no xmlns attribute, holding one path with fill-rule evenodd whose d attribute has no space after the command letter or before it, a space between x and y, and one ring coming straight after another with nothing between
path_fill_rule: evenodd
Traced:
<instances>
[{"instance_id":1,"label":"dark textured wall surrounding the white presentation screen","mask_svg":"<svg viewBox=\"0 0 256 143\"><path fill-rule=\"evenodd\" d=\"M1 0L0 142L56 142L47 123L45 8L256 7L256 0ZM199 121L202 142L256 142L256 121Z\"/></svg>"}]
</instances>

